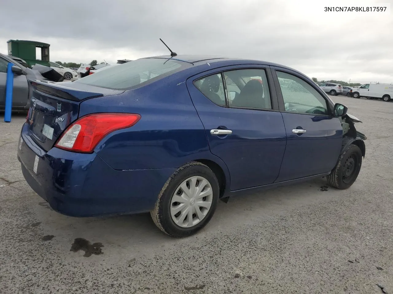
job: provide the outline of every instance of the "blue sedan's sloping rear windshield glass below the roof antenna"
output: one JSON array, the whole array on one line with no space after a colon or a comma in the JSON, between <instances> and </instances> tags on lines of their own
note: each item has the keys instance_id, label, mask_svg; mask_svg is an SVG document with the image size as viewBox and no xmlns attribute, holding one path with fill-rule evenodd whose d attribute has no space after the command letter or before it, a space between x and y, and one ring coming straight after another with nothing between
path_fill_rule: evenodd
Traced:
<instances>
[{"instance_id":1,"label":"blue sedan's sloping rear windshield glass below the roof antenna","mask_svg":"<svg viewBox=\"0 0 393 294\"><path fill-rule=\"evenodd\" d=\"M128 90L141 84L173 74L191 64L163 58L141 58L119 64L105 71L97 71L74 83L83 83L113 90Z\"/></svg>"}]
</instances>

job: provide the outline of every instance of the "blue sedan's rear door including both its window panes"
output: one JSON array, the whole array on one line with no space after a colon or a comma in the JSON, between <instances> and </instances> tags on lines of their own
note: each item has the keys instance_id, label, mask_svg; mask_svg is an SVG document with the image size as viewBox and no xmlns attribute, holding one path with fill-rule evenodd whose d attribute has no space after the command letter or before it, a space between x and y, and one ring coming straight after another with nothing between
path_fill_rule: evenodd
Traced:
<instances>
[{"instance_id":1,"label":"blue sedan's rear door including both its window panes","mask_svg":"<svg viewBox=\"0 0 393 294\"><path fill-rule=\"evenodd\" d=\"M286 134L270 68L215 69L189 78L187 88L211 153L228 167L230 190L273 183Z\"/></svg>"}]
</instances>

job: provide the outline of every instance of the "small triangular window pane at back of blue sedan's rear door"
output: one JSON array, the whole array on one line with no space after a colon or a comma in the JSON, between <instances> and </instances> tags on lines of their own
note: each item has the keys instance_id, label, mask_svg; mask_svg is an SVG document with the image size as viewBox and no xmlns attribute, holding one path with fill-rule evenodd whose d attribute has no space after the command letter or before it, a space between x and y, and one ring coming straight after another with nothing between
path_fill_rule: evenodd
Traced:
<instances>
[{"instance_id":1,"label":"small triangular window pane at back of blue sedan's rear door","mask_svg":"<svg viewBox=\"0 0 393 294\"><path fill-rule=\"evenodd\" d=\"M221 73L212 74L197 80L195 87L202 92L211 102L225 106L224 83L222 82Z\"/></svg>"}]
</instances>

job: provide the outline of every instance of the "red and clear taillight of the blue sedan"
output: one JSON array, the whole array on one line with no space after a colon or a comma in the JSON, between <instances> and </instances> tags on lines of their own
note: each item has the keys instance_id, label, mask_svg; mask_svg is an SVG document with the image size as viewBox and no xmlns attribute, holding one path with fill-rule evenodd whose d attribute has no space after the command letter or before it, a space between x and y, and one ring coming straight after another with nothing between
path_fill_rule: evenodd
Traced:
<instances>
[{"instance_id":1,"label":"red and clear taillight of the blue sedan","mask_svg":"<svg viewBox=\"0 0 393 294\"><path fill-rule=\"evenodd\" d=\"M83 116L64 131L55 147L91 153L107 134L131 127L140 118L139 114L133 113L95 113Z\"/></svg>"}]
</instances>

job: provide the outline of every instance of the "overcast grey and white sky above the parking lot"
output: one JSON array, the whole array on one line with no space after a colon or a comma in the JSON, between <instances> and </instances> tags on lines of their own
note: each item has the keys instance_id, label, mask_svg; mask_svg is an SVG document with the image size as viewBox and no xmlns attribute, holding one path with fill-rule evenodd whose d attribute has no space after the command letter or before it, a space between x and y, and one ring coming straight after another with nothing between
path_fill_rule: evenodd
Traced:
<instances>
[{"instance_id":1,"label":"overcast grey and white sky above the parking lot","mask_svg":"<svg viewBox=\"0 0 393 294\"><path fill-rule=\"evenodd\" d=\"M114 63L168 54L252 58L310 77L393 82L393 13L325 12L325 6L382 6L393 0L4 0L7 40L49 43L51 61ZM386 5L384 5L386 6Z\"/></svg>"}]
</instances>

